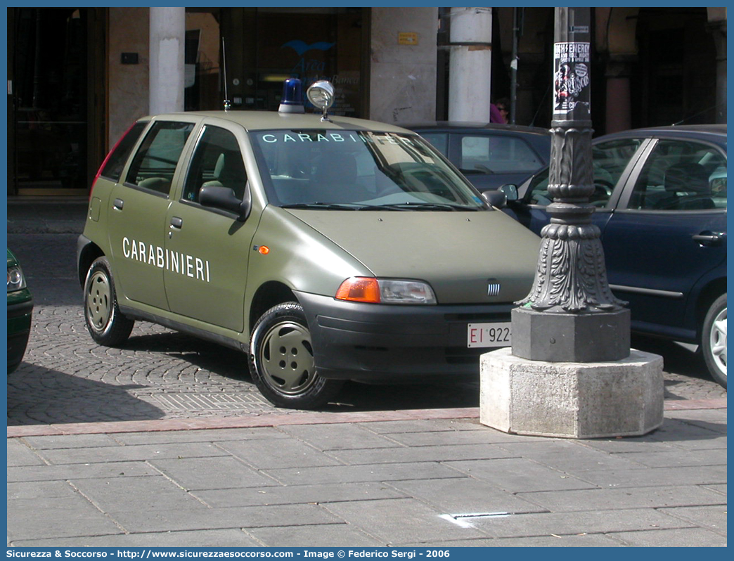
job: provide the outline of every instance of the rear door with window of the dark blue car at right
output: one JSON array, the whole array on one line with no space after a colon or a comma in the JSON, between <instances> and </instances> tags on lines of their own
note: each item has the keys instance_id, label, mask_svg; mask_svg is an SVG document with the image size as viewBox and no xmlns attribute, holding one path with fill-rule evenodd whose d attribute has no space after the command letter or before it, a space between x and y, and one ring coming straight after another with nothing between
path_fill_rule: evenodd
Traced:
<instances>
[{"instance_id":1,"label":"rear door with window of the dark blue car at right","mask_svg":"<svg viewBox=\"0 0 734 561\"><path fill-rule=\"evenodd\" d=\"M691 289L726 259L726 166L703 142L646 148L603 232L608 280L633 322L695 330L683 319Z\"/></svg>"}]
</instances>

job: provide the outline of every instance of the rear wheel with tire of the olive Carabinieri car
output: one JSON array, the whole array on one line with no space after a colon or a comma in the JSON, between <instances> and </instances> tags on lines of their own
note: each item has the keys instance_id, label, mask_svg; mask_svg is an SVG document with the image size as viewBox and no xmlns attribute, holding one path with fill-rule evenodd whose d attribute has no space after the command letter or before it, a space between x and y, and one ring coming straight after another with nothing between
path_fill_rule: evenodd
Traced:
<instances>
[{"instance_id":1,"label":"rear wheel with tire of the olive Carabinieri car","mask_svg":"<svg viewBox=\"0 0 734 561\"><path fill-rule=\"evenodd\" d=\"M120 313L115 294L115 280L109 261L100 257L87 271L84 281L84 321L92 339L106 347L127 341L134 321Z\"/></svg>"}]
</instances>

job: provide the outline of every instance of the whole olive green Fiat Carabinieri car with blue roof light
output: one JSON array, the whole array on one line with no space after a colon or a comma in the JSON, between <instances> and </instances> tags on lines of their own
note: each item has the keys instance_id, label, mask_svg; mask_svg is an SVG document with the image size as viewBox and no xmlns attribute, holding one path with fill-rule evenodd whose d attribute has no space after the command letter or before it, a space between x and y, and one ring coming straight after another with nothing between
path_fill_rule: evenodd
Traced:
<instances>
[{"instance_id":1,"label":"whole olive green Fiat Carabinieri car with blue roof light","mask_svg":"<svg viewBox=\"0 0 734 561\"><path fill-rule=\"evenodd\" d=\"M279 112L144 117L92 187L77 261L92 339L135 320L247 354L285 408L318 408L344 380L479 373L510 343L539 238L492 206L417 134Z\"/></svg>"}]
</instances>

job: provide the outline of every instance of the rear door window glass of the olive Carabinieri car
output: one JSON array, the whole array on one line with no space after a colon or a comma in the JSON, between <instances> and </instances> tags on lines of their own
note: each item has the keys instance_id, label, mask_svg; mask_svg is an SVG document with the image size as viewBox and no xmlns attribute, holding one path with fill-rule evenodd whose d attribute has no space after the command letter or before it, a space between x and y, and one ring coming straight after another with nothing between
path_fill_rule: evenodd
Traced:
<instances>
[{"instance_id":1,"label":"rear door window glass of the olive Carabinieri car","mask_svg":"<svg viewBox=\"0 0 734 561\"><path fill-rule=\"evenodd\" d=\"M153 123L135 154L126 183L167 195L183 146L193 128L192 123Z\"/></svg>"}]
</instances>

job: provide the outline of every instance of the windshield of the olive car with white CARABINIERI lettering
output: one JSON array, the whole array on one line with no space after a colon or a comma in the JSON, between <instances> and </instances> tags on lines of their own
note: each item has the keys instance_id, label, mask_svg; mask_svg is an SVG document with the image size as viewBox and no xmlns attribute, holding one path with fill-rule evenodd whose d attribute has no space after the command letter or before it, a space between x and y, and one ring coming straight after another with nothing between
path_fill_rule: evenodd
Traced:
<instances>
[{"instance_id":1,"label":"windshield of the olive car with white CARABINIERI lettering","mask_svg":"<svg viewBox=\"0 0 734 561\"><path fill-rule=\"evenodd\" d=\"M484 210L479 194L409 134L251 133L269 203L286 208Z\"/></svg>"}]
</instances>

